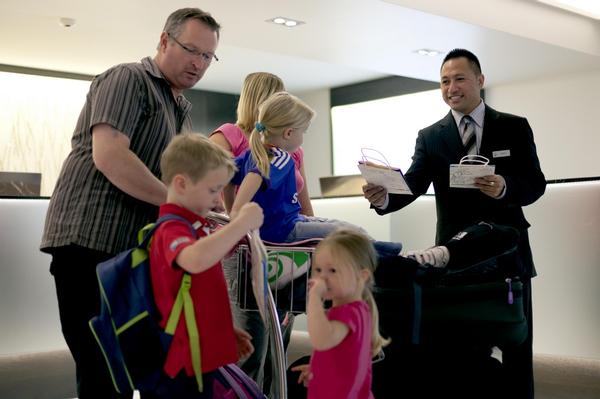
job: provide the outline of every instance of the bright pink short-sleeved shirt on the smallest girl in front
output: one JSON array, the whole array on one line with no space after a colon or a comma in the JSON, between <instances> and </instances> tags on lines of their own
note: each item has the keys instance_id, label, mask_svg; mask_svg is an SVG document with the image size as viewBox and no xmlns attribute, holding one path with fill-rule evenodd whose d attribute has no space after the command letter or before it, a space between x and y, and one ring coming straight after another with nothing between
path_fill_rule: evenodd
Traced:
<instances>
[{"instance_id":1,"label":"bright pink short-sleeved shirt on the smallest girl in front","mask_svg":"<svg viewBox=\"0 0 600 399\"><path fill-rule=\"evenodd\" d=\"M337 306L329 309L327 318L350 331L336 347L313 352L308 399L373 399L369 305L356 301Z\"/></svg>"}]
</instances>

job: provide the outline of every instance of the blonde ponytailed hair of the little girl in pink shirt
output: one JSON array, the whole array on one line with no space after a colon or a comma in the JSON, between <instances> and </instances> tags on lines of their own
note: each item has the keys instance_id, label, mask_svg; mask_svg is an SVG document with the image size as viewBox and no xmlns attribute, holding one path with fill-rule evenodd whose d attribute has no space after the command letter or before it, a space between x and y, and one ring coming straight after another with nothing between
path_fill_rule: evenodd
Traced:
<instances>
[{"instance_id":1,"label":"blonde ponytailed hair of the little girl in pink shirt","mask_svg":"<svg viewBox=\"0 0 600 399\"><path fill-rule=\"evenodd\" d=\"M351 229L340 229L329 234L319 243L316 251L323 248L327 248L334 259L340 259L340 263L351 265L357 276L361 270L369 271L362 299L371 311L371 355L375 356L381 348L390 343L390 340L383 338L379 332L379 311L372 292L375 284L373 274L377 268L375 248L365 234Z\"/></svg>"}]
</instances>

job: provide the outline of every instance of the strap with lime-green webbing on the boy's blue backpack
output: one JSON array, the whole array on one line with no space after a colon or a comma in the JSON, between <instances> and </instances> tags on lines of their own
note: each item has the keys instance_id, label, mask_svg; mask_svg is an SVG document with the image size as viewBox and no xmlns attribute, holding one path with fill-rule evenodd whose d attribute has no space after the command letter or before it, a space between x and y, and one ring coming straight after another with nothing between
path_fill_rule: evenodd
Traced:
<instances>
[{"instance_id":1,"label":"strap with lime-green webbing on the boy's blue backpack","mask_svg":"<svg viewBox=\"0 0 600 399\"><path fill-rule=\"evenodd\" d=\"M146 225L139 231L138 247L143 249L149 248L152 235L158 226L164 222L168 222L169 220L179 220L185 222L190 227L194 237L197 237L196 229L194 229L194 226L192 226L189 220L178 215L167 214L160 217L156 223ZM185 325L190 344L192 368L194 369L194 375L196 376L196 382L198 383L198 390L202 392L204 389L204 384L202 382L202 364L200 360L200 335L198 334L198 325L196 324L194 302L192 300L192 296L190 295L191 288L192 276L188 272L184 272L183 278L181 279L181 285L179 286L179 291L177 292L177 297L175 298L175 303L171 308L171 313L169 314L169 319L167 320L165 332L169 335L175 334L175 329L179 323L179 317L183 311L185 314Z\"/></svg>"}]
</instances>

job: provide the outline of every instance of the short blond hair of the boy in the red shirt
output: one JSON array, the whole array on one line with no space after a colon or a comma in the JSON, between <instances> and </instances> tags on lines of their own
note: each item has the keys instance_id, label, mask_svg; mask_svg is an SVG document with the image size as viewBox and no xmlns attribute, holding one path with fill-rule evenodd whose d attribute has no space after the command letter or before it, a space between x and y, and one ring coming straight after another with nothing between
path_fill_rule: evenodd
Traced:
<instances>
[{"instance_id":1,"label":"short blond hair of the boy in the red shirt","mask_svg":"<svg viewBox=\"0 0 600 399\"><path fill-rule=\"evenodd\" d=\"M160 158L162 181L166 185L177 174L184 174L196 183L207 172L220 167L226 167L230 176L237 169L229 152L199 133L175 136Z\"/></svg>"}]
</instances>

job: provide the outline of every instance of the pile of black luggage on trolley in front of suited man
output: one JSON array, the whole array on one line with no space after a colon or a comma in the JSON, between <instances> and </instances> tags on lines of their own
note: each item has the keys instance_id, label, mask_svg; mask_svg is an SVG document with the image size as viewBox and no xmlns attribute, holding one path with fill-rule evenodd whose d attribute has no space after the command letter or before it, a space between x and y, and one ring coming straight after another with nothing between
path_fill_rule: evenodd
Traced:
<instances>
[{"instance_id":1,"label":"pile of black luggage on trolley in front of suited man","mask_svg":"<svg viewBox=\"0 0 600 399\"><path fill-rule=\"evenodd\" d=\"M374 297L380 327L400 343L506 347L527 337L517 230L478 223L445 245L446 268L380 260Z\"/></svg>"}]
</instances>

